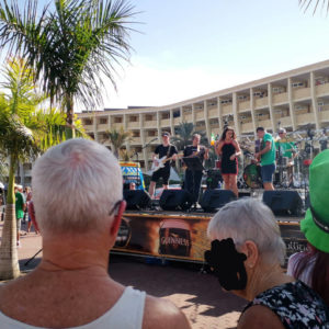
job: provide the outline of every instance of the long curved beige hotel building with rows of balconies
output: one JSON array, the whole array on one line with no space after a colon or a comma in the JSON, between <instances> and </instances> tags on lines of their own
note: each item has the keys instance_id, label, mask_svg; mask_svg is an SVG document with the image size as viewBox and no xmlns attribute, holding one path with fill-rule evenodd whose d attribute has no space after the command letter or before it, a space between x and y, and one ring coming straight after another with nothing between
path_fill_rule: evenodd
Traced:
<instances>
[{"instance_id":1,"label":"long curved beige hotel building with rows of balconies","mask_svg":"<svg viewBox=\"0 0 329 329\"><path fill-rule=\"evenodd\" d=\"M131 131L133 138L125 147L137 152L133 160L138 158L147 170L161 133L174 136L182 122L193 123L195 131L204 131L208 138L220 134L225 124L234 126L238 136L253 136L258 126L270 133L279 127L295 132L306 124L313 129L329 126L329 60L170 105L104 109L78 117L98 141L104 140L106 131Z\"/></svg>"}]
</instances>

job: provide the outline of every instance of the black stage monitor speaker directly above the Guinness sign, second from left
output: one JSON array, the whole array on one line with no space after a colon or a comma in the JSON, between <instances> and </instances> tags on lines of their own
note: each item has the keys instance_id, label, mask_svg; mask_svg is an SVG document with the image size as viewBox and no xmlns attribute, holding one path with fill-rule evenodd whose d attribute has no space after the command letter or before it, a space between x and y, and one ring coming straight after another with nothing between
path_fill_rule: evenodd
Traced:
<instances>
[{"instance_id":1,"label":"black stage monitor speaker directly above the Guinness sign, second from left","mask_svg":"<svg viewBox=\"0 0 329 329\"><path fill-rule=\"evenodd\" d=\"M160 207L163 211L189 211L193 204L193 196L186 190L163 190Z\"/></svg>"}]
</instances>

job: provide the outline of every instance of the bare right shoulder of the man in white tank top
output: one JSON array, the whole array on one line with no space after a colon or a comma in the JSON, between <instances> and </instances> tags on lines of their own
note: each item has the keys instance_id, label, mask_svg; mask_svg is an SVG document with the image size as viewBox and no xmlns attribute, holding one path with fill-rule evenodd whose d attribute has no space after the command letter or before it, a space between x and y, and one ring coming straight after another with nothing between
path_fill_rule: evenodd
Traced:
<instances>
[{"instance_id":1,"label":"bare right shoulder of the man in white tank top","mask_svg":"<svg viewBox=\"0 0 329 329\"><path fill-rule=\"evenodd\" d=\"M170 300L146 296L143 329L191 328L185 315Z\"/></svg>"}]
</instances>

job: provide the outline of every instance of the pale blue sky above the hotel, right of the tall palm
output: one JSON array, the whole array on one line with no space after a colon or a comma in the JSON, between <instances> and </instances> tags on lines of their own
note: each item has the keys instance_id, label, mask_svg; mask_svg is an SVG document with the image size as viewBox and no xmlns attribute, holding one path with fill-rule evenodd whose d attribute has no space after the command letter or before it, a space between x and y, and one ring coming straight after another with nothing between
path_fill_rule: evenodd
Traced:
<instances>
[{"instance_id":1,"label":"pale blue sky above the hotel, right of the tall palm","mask_svg":"<svg viewBox=\"0 0 329 329\"><path fill-rule=\"evenodd\" d=\"M329 16L298 0L129 2L139 33L104 107L168 105L329 59Z\"/></svg>"}]
</instances>

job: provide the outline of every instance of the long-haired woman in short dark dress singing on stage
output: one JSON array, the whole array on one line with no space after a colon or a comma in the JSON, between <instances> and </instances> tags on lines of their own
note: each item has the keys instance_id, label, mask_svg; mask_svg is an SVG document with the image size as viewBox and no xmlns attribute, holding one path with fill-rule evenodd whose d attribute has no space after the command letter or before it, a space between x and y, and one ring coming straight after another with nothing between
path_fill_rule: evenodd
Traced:
<instances>
[{"instance_id":1,"label":"long-haired woman in short dark dress singing on stage","mask_svg":"<svg viewBox=\"0 0 329 329\"><path fill-rule=\"evenodd\" d=\"M225 183L225 190L232 191L238 196L237 175L238 159L241 154L237 136L231 127L226 127L220 139L215 146L217 156L222 156L222 175Z\"/></svg>"}]
</instances>

